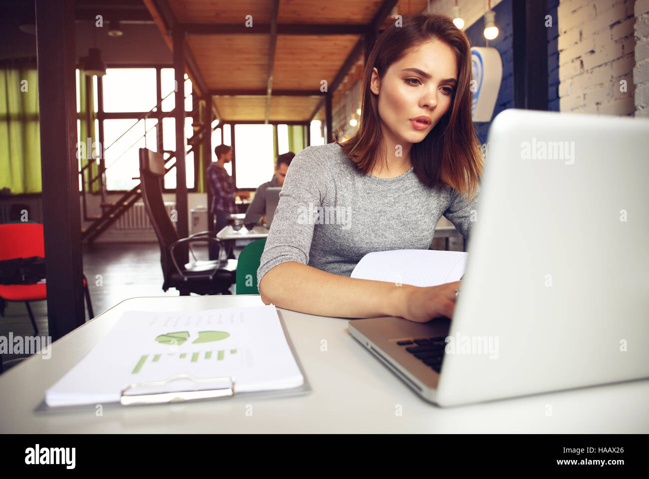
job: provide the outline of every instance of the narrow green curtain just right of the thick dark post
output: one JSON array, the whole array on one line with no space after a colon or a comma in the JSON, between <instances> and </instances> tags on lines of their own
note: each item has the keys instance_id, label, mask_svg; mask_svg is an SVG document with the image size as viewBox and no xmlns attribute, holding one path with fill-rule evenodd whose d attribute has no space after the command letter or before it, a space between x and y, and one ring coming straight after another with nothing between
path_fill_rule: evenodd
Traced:
<instances>
[{"instance_id":1,"label":"narrow green curtain just right of the thick dark post","mask_svg":"<svg viewBox=\"0 0 649 479\"><path fill-rule=\"evenodd\" d=\"M101 179L98 178L99 164L97 164L98 154L103 153L103 149L95 151L93 143L99 145L99 138L95 129L95 88L93 77L84 75L83 70L79 70L79 139L86 143L86 154L81 155L79 158L79 169L92 162L90 167L84 171L84 188L90 193L97 193L101 191ZM90 138L90 141L88 141ZM92 181L93 178L97 178Z\"/></svg>"}]
</instances>

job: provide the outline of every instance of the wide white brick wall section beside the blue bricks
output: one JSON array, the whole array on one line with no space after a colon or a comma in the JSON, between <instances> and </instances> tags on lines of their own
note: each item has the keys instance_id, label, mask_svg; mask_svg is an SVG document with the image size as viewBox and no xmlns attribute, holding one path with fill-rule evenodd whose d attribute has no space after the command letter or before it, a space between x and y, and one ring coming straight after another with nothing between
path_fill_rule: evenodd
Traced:
<instances>
[{"instance_id":1,"label":"wide white brick wall section beside the blue bricks","mask_svg":"<svg viewBox=\"0 0 649 479\"><path fill-rule=\"evenodd\" d=\"M649 62L644 69L636 67L636 3L646 4L649 0L559 2L557 48L562 112L620 116L635 113L634 83L649 84ZM648 38L646 32L644 38ZM643 50L645 60L647 49ZM626 92L620 91L622 80L626 81Z\"/></svg>"}]
</instances>

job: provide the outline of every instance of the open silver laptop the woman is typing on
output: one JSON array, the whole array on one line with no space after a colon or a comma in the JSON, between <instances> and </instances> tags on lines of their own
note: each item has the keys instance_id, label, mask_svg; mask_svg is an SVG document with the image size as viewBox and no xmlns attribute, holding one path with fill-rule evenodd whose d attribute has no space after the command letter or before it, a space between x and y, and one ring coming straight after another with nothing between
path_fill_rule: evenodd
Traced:
<instances>
[{"instance_id":1,"label":"open silver laptop the woman is typing on","mask_svg":"<svg viewBox=\"0 0 649 479\"><path fill-rule=\"evenodd\" d=\"M349 321L439 406L649 377L649 120L505 110L452 319Z\"/></svg>"}]
</instances>

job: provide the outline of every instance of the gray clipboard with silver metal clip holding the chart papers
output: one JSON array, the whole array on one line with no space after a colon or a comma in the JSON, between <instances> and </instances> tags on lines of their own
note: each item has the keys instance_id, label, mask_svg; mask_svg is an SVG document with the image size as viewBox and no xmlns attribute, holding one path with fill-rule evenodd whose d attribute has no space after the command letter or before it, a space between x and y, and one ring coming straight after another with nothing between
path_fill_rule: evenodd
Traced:
<instances>
[{"instance_id":1,"label":"gray clipboard with silver metal clip holding the chart papers","mask_svg":"<svg viewBox=\"0 0 649 479\"><path fill-rule=\"evenodd\" d=\"M304 368L300 362L300 358L295 352L295 347L293 346L293 341L291 341L291 336L286 330L286 325L284 324L284 318L282 318L282 312L276 309L277 316L280 319L280 325L282 326L282 332L284 332L284 337L286 338L286 343L288 344L293 358L295 358L295 363L304 378L302 386L292 387L289 389L271 389L266 391L249 391L245 393L236 392L236 384L230 376L223 376L219 378L195 378L190 374L180 373L177 375L170 376L160 381L154 381L149 383L132 383L126 384L121 390L119 402L106 402L102 403L102 407L108 410L127 410L131 406L162 406L165 404L186 404L189 402L204 402L206 400L234 400L234 401L250 401L254 399L267 399L267 398L284 398L284 397L295 397L307 395L311 392L311 386L306 374L304 374ZM154 393L141 393L141 394L126 394L133 389L138 387L149 387L149 386L164 386L164 384L169 384L173 380L177 379L186 379L190 380L195 384L201 383L215 383L221 382L221 387L213 387L206 389L186 389L178 391L164 391L161 387L161 390ZM127 404L125 404L125 402ZM45 402L45 399L34 408L35 413L41 414L50 414L50 413L64 413L64 412L88 412L95 411L97 404L79 404L73 406L48 406Z\"/></svg>"}]
</instances>

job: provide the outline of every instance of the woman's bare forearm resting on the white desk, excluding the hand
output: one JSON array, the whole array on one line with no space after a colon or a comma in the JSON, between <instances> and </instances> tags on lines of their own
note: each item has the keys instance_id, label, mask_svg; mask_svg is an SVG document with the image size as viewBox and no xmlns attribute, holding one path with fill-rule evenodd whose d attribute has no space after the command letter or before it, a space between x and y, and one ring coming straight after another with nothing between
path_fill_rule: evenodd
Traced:
<instances>
[{"instance_id":1,"label":"woman's bare forearm resting on the white desk, excluding the hand","mask_svg":"<svg viewBox=\"0 0 649 479\"><path fill-rule=\"evenodd\" d=\"M330 317L400 316L411 288L334 275L298 262L276 265L259 284L265 304Z\"/></svg>"}]
</instances>

